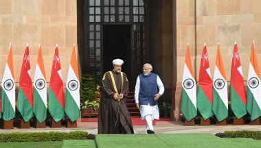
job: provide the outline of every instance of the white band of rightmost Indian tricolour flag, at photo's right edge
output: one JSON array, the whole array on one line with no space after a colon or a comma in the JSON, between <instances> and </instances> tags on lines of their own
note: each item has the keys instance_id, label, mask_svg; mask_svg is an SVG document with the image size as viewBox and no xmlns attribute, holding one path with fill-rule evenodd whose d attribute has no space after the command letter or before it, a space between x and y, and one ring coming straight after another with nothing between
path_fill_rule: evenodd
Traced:
<instances>
[{"instance_id":1,"label":"white band of rightmost Indian tricolour flag, at photo's right edge","mask_svg":"<svg viewBox=\"0 0 261 148\"><path fill-rule=\"evenodd\" d=\"M256 77L258 79L258 81L259 81L259 85L256 88L251 88L249 86L249 80L252 77ZM256 103L258 103L258 106L261 109L261 81L260 81L260 78L258 77L258 75L256 74L255 69L253 69L253 66L252 66L251 62L249 64L249 75L247 77L247 87L251 91L253 97L256 100Z\"/></svg>"}]
</instances>

